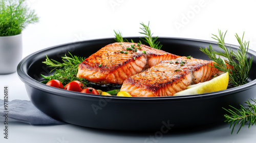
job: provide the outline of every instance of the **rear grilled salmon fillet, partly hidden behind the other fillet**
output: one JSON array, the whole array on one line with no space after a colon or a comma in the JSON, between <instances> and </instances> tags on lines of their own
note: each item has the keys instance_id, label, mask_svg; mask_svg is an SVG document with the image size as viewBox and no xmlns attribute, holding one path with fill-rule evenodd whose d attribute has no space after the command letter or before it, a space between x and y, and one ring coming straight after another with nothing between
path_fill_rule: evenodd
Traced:
<instances>
[{"instance_id":1,"label":"rear grilled salmon fillet, partly hidden behind the other fillet","mask_svg":"<svg viewBox=\"0 0 256 143\"><path fill-rule=\"evenodd\" d=\"M116 42L102 47L80 63L77 77L98 84L122 84L160 61L178 57L143 44Z\"/></svg>"}]
</instances>

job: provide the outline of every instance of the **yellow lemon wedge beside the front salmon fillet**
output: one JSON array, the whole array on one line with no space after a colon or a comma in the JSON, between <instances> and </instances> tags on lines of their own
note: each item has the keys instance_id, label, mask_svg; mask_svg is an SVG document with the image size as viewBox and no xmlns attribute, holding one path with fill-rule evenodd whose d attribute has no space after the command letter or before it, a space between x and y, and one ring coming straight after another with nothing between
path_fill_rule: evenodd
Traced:
<instances>
[{"instance_id":1,"label":"yellow lemon wedge beside the front salmon fillet","mask_svg":"<svg viewBox=\"0 0 256 143\"><path fill-rule=\"evenodd\" d=\"M186 96L225 90L228 86L228 79L228 73L225 73L210 81L189 85L187 86L187 89L175 93L174 96Z\"/></svg>"}]
</instances>

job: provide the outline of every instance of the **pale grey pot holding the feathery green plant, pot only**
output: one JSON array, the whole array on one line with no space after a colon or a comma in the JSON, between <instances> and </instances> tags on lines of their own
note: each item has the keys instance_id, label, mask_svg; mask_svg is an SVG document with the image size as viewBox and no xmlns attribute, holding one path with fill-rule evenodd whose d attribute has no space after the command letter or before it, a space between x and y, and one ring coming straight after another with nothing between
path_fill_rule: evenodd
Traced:
<instances>
[{"instance_id":1,"label":"pale grey pot holding the feathery green plant, pot only","mask_svg":"<svg viewBox=\"0 0 256 143\"><path fill-rule=\"evenodd\" d=\"M11 74L22 60L22 34L0 36L0 74Z\"/></svg>"}]
</instances>

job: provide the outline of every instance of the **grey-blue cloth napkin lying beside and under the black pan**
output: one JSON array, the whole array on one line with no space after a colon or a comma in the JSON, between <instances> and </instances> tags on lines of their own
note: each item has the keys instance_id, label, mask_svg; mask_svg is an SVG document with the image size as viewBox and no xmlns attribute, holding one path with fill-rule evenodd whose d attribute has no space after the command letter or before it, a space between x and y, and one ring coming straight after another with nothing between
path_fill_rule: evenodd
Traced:
<instances>
[{"instance_id":1,"label":"grey-blue cloth napkin lying beside and under the black pan","mask_svg":"<svg viewBox=\"0 0 256 143\"><path fill-rule=\"evenodd\" d=\"M5 110L4 100L0 100L0 116L2 116L4 120L6 113L8 113L8 118L15 121L28 123L30 125L67 124L57 121L47 114L41 112L31 103L31 101L26 100L13 100L8 102L8 110Z\"/></svg>"}]
</instances>

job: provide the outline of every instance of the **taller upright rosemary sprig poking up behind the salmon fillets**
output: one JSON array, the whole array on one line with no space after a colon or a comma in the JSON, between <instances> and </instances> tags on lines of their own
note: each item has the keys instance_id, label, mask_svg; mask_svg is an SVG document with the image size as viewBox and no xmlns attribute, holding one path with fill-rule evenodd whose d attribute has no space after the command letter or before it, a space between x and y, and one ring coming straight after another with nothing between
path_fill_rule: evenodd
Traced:
<instances>
[{"instance_id":1,"label":"taller upright rosemary sprig poking up behind the salmon fillets","mask_svg":"<svg viewBox=\"0 0 256 143\"><path fill-rule=\"evenodd\" d=\"M140 34L146 35L145 39L142 39L146 43L148 43L151 47L154 47L155 49L161 49L162 45L160 44L160 41L156 41L158 39L157 37L152 37L153 33L151 34L151 30L149 28L150 21L148 21L148 25L144 25L144 23L140 23L140 25L143 26L143 28L140 28L143 32L139 32Z\"/></svg>"}]
</instances>

